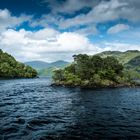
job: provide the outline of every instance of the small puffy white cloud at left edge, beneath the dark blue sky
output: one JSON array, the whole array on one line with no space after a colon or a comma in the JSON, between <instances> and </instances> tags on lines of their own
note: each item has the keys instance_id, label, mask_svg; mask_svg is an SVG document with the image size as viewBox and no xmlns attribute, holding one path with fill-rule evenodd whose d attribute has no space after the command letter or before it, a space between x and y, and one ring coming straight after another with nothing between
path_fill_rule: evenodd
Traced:
<instances>
[{"instance_id":1,"label":"small puffy white cloud at left edge, beneath the dark blue sky","mask_svg":"<svg viewBox=\"0 0 140 140\"><path fill-rule=\"evenodd\" d=\"M12 16L8 9L0 9L0 32L7 28L14 28L23 22L29 21L31 16L20 15L19 17Z\"/></svg>"}]
</instances>

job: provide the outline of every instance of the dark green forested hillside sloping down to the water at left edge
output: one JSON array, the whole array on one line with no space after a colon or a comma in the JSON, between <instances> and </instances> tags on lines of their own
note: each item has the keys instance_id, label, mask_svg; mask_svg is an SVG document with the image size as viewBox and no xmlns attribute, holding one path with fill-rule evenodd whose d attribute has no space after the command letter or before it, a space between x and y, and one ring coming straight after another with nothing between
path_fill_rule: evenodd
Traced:
<instances>
[{"instance_id":1,"label":"dark green forested hillside sloping down to the water at left edge","mask_svg":"<svg viewBox=\"0 0 140 140\"><path fill-rule=\"evenodd\" d=\"M33 78L37 72L30 66L25 66L8 53L0 49L0 79L1 78Z\"/></svg>"}]
</instances>

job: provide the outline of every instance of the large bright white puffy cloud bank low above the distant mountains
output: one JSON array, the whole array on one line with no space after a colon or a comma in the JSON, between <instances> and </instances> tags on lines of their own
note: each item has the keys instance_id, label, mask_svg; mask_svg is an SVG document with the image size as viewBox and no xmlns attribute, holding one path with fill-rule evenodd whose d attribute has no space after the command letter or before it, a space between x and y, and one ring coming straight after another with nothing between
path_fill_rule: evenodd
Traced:
<instances>
[{"instance_id":1,"label":"large bright white puffy cloud bank low above the distant mountains","mask_svg":"<svg viewBox=\"0 0 140 140\"><path fill-rule=\"evenodd\" d=\"M8 29L0 36L0 48L20 61L71 59L77 53L97 53L100 48L77 33L60 33L46 28L37 32ZM56 56L55 56L56 55ZM67 55L67 56L66 56ZM65 56L65 57L64 57Z\"/></svg>"}]
</instances>

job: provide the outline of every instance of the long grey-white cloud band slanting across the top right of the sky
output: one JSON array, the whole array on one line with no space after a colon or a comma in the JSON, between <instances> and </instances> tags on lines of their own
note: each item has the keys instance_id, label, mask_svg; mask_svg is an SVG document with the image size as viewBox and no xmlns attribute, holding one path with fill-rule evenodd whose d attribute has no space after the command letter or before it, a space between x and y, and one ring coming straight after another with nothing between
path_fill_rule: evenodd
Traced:
<instances>
[{"instance_id":1,"label":"long grey-white cloud band slanting across the top right of the sky","mask_svg":"<svg viewBox=\"0 0 140 140\"><path fill-rule=\"evenodd\" d=\"M88 35L95 34L98 23L126 19L131 22L140 22L140 2L138 0L66 0L63 2L56 2L55 0L43 0L52 9L52 13L42 15L40 19L31 21L31 26L41 25L49 27L49 25L56 25L59 29L68 29L69 27L79 27L79 25L86 25L88 28L77 30L77 33ZM44 4L43 3L43 4ZM59 13L75 13L84 7L90 7L91 11L86 14L78 14L73 18L64 18ZM88 33L89 32L89 33Z\"/></svg>"}]
</instances>

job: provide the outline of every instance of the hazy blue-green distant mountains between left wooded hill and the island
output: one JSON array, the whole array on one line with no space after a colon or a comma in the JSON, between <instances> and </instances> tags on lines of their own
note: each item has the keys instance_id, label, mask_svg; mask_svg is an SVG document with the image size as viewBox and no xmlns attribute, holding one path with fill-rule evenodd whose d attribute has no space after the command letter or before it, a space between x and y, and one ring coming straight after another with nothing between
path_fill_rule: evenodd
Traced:
<instances>
[{"instance_id":1,"label":"hazy blue-green distant mountains between left wooded hill and the island","mask_svg":"<svg viewBox=\"0 0 140 140\"><path fill-rule=\"evenodd\" d=\"M50 76L53 73L53 70L57 68L64 68L69 65L69 62L58 60L52 63L47 63L44 61L30 61L26 62L26 65L29 65L38 71L39 76Z\"/></svg>"}]
</instances>

